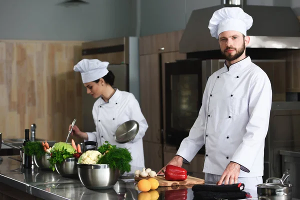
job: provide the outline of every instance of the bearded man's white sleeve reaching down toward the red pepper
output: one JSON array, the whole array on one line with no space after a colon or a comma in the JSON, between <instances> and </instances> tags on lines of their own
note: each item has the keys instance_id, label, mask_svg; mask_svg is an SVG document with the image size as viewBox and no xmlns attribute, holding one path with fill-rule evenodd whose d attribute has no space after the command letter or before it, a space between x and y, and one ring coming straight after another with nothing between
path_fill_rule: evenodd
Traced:
<instances>
[{"instance_id":1,"label":"bearded man's white sleeve reaching down toward the red pepper","mask_svg":"<svg viewBox=\"0 0 300 200\"><path fill-rule=\"evenodd\" d=\"M194 124L190 128L188 136L181 141L180 147L176 153L176 155L179 155L183 158L184 163L190 162L204 144L203 135L204 135L205 120L206 120L206 112L207 112L206 111L207 110L206 109L207 87L210 83L210 77L207 80L203 92L202 106L200 107L198 117L196 118Z\"/></svg>"}]
</instances>

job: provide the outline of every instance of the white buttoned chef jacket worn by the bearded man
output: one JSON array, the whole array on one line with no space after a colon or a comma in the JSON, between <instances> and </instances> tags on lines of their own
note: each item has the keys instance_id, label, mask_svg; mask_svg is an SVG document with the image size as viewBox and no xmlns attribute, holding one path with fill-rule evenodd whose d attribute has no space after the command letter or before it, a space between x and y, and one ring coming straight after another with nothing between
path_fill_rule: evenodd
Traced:
<instances>
[{"instance_id":1,"label":"white buttoned chef jacket worn by the bearded man","mask_svg":"<svg viewBox=\"0 0 300 200\"><path fill-rule=\"evenodd\" d=\"M264 139L272 102L266 73L246 57L207 80L199 115L177 154L190 162L205 144L203 172L222 175L230 161L239 177L263 175Z\"/></svg>"}]
</instances>

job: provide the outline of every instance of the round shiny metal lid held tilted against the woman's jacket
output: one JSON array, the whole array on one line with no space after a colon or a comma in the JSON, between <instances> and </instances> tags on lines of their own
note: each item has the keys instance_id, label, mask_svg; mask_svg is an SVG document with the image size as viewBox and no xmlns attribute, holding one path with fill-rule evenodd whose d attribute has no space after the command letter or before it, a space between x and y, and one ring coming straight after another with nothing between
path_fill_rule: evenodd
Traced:
<instances>
[{"instance_id":1,"label":"round shiny metal lid held tilted against the woman's jacket","mask_svg":"<svg viewBox=\"0 0 300 200\"><path fill-rule=\"evenodd\" d=\"M121 125L115 131L114 139L118 143L131 141L139 130L139 124L135 120L129 120Z\"/></svg>"}]
</instances>

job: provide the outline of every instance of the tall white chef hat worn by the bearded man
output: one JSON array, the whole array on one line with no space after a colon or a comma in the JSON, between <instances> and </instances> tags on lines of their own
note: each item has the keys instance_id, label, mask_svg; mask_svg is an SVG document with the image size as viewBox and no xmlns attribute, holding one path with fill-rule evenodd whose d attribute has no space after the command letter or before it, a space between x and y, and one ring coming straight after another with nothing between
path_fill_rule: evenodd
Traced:
<instances>
[{"instance_id":1,"label":"tall white chef hat worn by the bearded man","mask_svg":"<svg viewBox=\"0 0 300 200\"><path fill-rule=\"evenodd\" d=\"M227 30L235 30L246 36L246 31L252 26L252 23L252 17L240 7L223 7L212 14L208 28L211 36L215 38Z\"/></svg>"}]
</instances>

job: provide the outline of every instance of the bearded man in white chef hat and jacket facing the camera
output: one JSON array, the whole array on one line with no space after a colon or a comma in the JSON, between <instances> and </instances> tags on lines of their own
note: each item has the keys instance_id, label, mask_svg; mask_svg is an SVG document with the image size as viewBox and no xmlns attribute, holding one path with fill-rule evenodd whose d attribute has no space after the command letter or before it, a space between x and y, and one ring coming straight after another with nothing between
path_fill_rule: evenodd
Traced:
<instances>
[{"instance_id":1,"label":"bearded man in white chef hat and jacket facing the camera","mask_svg":"<svg viewBox=\"0 0 300 200\"><path fill-rule=\"evenodd\" d=\"M252 22L239 7L213 13L208 28L226 60L208 78L198 117L168 163L182 166L205 145L206 183L242 182L247 189L262 183L272 90L266 73L245 54Z\"/></svg>"}]
</instances>

